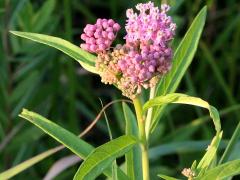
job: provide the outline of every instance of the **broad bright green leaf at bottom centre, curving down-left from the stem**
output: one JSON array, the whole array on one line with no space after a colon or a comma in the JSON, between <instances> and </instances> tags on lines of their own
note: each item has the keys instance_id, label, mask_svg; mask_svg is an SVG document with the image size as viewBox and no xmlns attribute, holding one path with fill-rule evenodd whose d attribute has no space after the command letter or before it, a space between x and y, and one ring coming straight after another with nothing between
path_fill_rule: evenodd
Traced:
<instances>
[{"instance_id":1,"label":"broad bright green leaf at bottom centre, curving down-left from the stem","mask_svg":"<svg viewBox=\"0 0 240 180\"><path fill-rule=\"evenodd\" d=\"M136 143L136 138L125 135L99 146L81 164L74 180L95 179L117 157L124 155Z\"/></svg>"}]
</instances>

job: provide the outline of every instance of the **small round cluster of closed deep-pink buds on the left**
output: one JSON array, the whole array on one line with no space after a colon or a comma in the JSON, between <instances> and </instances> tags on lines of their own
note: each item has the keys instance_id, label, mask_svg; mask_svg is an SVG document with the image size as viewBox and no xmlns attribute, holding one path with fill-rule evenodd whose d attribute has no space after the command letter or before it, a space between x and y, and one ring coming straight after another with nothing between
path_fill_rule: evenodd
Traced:
<instances>
[{"instance_id":1,"label":"small round cluster of closed deep-pink buds on the left","mask_svg":"<svg viewBox=\"0 0 240 180\"><path fill-rule=\"evenodd\" d=\"M92 53L103 52L111 46L119 30L120 25L115 23L114 20L98 19L96 24L88 24L84 28L81 39L85 43L80 46Z\"/></svg>"}]
</instances>

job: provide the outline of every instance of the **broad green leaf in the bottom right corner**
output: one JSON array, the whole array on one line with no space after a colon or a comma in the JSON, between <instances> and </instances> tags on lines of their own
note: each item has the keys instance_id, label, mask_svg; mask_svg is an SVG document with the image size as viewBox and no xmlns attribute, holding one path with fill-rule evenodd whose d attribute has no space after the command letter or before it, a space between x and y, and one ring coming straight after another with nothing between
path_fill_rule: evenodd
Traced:
<instances>
[{"instance_id":1,"label":"broad green leaf in the bottom right corner","mask_svg":"<svg viewBox=\"0 0 240 180\"><path fill-rule=\"evenodd\" d=\"M196 180L224 179L240 174L240 160L229 161L219 165L209 171L204 176L197 177Z\"/></svg>"}]
</instances>

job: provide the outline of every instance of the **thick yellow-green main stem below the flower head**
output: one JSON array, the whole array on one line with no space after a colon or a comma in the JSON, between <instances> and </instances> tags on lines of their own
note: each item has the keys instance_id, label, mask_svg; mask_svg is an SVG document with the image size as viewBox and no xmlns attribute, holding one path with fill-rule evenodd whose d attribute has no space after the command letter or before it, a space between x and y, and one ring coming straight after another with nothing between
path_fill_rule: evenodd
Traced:
<instances>
[{"instance_id":1,"label":"thick yellow-green main stem below the flower head","mask_svg":"<svg viewBox=\"0 0 240 180\"><path fill-rule=\"evenodd\" d=\"M143 180L149 180L148 141L146 139L145 119L143 117L142 104L139 98L133 99L133 104L138 121L139 139L142 153Z\"/></svg>"}]
</instances>

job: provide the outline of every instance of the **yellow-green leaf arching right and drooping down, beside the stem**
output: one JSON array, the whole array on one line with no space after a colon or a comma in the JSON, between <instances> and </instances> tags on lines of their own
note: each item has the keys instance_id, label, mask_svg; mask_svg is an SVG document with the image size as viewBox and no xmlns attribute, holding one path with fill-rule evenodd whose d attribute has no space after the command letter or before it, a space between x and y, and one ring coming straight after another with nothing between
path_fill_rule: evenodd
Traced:
<instances>
[{"instance_id":1,"label":"yellow-green leaf arching right and drooping down, beside the stem","mask_svg":"<svg viewBox=\"0 0 240 180\"><path fill-rule=\"evenodd\" d=\"M143 111L145 112L147 109L154 107L154 106L163 106L167 105L169 103L175 103L175 104L189 104L194 106L199 106L202 108L206 108L209 111L210 117L213 120L215 130L216 130L216 136L213 138L210 146L207 149L206 154L200 161L197 167L197 172L203 173L211 164L214 156L216 155L217 148L219 146L222 132L221 131L221 123L220 123L220 117L217 109L211 105L208 104L208 102L197 98L188 96L185 94L179 94L179 93L172 93L167 94L165 96L159 96L154 99L151 99L147 101L143 106Z\"/></svg>"}]
</instances>

